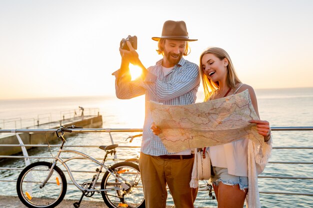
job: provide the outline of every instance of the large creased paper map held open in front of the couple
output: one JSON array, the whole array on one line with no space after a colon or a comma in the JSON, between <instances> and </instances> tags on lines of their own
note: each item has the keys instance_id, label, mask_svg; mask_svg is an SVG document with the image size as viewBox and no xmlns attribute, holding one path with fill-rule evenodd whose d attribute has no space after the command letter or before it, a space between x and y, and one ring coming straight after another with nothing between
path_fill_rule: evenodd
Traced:
<instances>
[{"instance_id":1,"label":"large creased paper map held open in front of the couple","mask_svg":"<svg viewBox=\"0 0 313 208\"><path fill-rule=\"evenodd\" d=\"M149 102L153 122L169 153L186 149L226 144L250 139L263 146L263 136L256 124L258 119L248 90L224 98L190 105L163 105Z\"/></svg>"}]
</instances>

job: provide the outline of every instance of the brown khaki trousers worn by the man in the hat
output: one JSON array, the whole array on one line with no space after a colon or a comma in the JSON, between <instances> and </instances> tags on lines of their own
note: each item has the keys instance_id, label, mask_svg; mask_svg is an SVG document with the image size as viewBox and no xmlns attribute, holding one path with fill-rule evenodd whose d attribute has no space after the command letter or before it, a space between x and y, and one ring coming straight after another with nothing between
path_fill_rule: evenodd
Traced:
<instances>
[{"instance_id":1,"label":"brown khaki trousers worn by the man in the hat","mask_svg":"<svg viewBox=\"0 0 313 208\"><path fill-rule=\"evenodd\" d=\"M176 208L193 208L197 189L189 187L191 159L161 159L140 153L139 169L146 208L165 208L168 185Z\"/></svg>"}]
</instances>

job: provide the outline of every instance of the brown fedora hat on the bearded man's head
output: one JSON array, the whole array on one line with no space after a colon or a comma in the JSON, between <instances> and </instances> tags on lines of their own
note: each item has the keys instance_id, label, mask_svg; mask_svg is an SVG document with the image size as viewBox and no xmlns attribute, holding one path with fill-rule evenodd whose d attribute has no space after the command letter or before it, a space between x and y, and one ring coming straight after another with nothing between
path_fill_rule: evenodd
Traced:
<instances>
[{"instance_id":1,"label":"brown fedora hat on the bearded man's head","mask_svg":"<svg viewBox=\"0 0 313 208\"><path fill-rule=\"evenodd\" d=\"M197 39L189 39L186 23L184 21L167 20L163 24L162 36L152 37L152 40L158 41L159 39L172 39L172 40L186 40L195 41Z\"/></svg>"}]
</instances>

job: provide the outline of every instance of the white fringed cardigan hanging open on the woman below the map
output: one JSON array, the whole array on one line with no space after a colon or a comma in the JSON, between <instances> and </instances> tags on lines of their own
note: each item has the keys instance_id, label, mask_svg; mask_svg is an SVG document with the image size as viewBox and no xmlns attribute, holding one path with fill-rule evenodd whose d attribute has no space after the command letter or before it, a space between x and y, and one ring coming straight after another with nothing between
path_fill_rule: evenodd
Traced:
<instances>
[{"instance_id":1,"label":"white fringed cardigan hanging open on the woman below the map","mask_svg":"<svg viewBox=\"0 0 313 208\"><path fill-rule=\"evenodd\" d=\"M272 135L270 139L264 143L263 147L259 144L248 141L247 159L248 159L248 194L246 195L246 208L261 208L259 201L259 193L257 186L257 176L261 174L268 162L272 149ZM195 149L195 153L196 153ZM190 187L196 188L198 186L197 178L197 160L194 157Z\"/></svg>"}]
</instances>

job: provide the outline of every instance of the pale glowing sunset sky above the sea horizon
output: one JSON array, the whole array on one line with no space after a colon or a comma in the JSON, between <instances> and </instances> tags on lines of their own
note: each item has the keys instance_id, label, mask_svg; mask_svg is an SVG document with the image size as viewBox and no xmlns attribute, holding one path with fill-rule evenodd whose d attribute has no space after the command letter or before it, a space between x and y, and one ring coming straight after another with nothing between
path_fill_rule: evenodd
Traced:
<instances>
[{"instance_id":1,"label":"pale glowing sunset sky above the sea horizon","mask_svg":"<svg viewBox=\"0 0 313 208\"><path fill-rule=\"evenodd\" d=\"M169 19L198 39L189 61L221 47L255 89L313 87L312 10L311 0L0 0L0 99L114 95L120 40L136 35L154 65L151 37Z\"/></svg>"}]
</instances>

